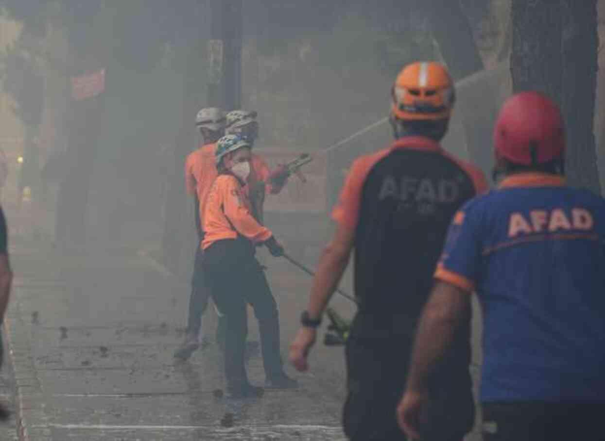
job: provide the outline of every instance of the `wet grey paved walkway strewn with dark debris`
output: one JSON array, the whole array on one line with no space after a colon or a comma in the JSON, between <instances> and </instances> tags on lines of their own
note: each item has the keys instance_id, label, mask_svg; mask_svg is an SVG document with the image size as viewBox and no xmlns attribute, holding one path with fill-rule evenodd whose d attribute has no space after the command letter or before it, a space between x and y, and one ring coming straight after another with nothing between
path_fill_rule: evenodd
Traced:
<instances>
[{"instance_id":1,"label":"wet grey paved walkway strewn with dark debris","mask_svg":"<svg viewBox=\"0 0 605 441\"><path fill-rule=\"evenodd\" d=\"M61 257L16 246L11 253L16 279L6 327L22 439L344 439L342 348L316 346L310 373L288 367L301 382L298 390L229 399L220 396L224 379L215 345L190 362L172 358L184 331L187 281L135 250ZM283 260L266 260L285 355L311 281ZM344 315L353 313L347 300L334 304ZM212 331L214 314L205 317ZM249 323L249 339L258 340L252 315ZM249 372L252 382L263 383L258 353L250 353Z\"/></svg>"}]
</instances>

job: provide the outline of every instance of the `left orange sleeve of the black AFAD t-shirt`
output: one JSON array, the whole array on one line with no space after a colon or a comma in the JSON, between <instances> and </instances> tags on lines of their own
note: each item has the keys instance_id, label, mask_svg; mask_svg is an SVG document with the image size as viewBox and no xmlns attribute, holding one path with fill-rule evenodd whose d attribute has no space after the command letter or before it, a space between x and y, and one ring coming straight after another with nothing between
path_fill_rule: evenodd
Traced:
<instances>
[{"instance_id":1,"label":"left orange sleeve of the black AFAD t-shirt","mask_svg":"<svg viewBox=\"0 0 605 441\"><path fill-rule=\"evenodd\" d=\"M364 187L365 177L375 163L376 159L373 156L361 156L353 162L344 181L338 203L332 210L332 219L338 224L352 229L357 227L361 190Z\"/></svg>"}]
</instances>

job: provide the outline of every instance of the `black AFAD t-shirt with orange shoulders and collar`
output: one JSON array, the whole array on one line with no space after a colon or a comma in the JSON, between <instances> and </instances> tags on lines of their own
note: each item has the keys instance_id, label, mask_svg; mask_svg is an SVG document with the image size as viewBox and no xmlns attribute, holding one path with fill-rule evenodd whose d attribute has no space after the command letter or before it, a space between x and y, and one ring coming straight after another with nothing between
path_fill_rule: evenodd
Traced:
<instances>
[{"instance_id":1,"label":"black AFAD t-shirt with orange shoulders and collar","mask_svg":"<svg viewBox=\"0 0 605 441\"><path fill-rule=\"evenodd\" d=\"M427 138L403 138L353 164L333 218L355 228L352 335L412 335L458 208L483 174Z\"/></svg>"}]
</instances>

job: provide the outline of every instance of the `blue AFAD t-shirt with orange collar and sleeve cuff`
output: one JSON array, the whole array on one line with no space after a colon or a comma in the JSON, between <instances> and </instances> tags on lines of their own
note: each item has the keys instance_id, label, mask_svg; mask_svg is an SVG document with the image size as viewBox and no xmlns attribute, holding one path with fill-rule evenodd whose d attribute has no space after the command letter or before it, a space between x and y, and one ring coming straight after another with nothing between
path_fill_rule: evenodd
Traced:
<instances>
[{"instance_id":1,"label":"blue AFAD t-shirt with orange collar and sleeve cuff","mask_svg":"<svg viewBox=\"0 0 605 441\"><path fill-rule=\"evenodd\" d=\"M483 402L605 402L603 198L508 178L456 214L436 278L479 296Z\"/></svg>"}]
</instances>

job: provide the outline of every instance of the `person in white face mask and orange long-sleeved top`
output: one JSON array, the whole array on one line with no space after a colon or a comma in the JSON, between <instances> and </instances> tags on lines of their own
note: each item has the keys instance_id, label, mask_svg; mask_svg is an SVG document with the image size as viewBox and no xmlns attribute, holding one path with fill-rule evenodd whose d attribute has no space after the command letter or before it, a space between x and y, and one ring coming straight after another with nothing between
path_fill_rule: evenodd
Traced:
<instances>
[{"instance_id":1,"label":"person in white face mask and orange long-sleeved top","mask_svg":"<svg viewBox=\"0 0 605 441\"><path fill-rule=\"evenodd\" d=\"M296 387L297 382L284 373L281 362L277 304L254 256L255 245L266 245L276 257L283 255L283 248L252 216L243 191L252 168L250 143L237 135L226 135L218 141L215 156L218 177L204 204L202 265L212 298L226 322L227 391L237 397L262 394L261 388L250 385L246 375L247 303L258 320L266 387Z\"/></svg>"}]
</instances>

